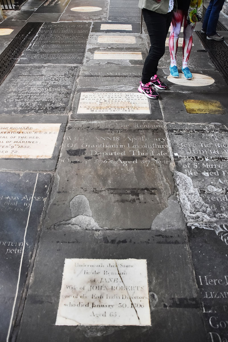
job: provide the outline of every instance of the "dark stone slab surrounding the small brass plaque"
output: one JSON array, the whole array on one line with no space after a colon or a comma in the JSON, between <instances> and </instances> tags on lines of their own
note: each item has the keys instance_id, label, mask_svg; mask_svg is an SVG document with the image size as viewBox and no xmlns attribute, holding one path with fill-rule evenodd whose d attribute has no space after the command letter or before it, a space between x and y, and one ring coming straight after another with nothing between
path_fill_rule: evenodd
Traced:
<instances>
[{"instance_id":1,"label":"dark stone slab surrounding the small brass plaque","mask_svg":"<svg viewBox=\"0 0 228 342\"><path fill-rule=\"evenodd\" d=\"M167 81L166 81L167 82ZM170 89L170 83L167 82L169 89ZM213 86L213 85L212 85ZM172 86L171 86L172 87ZM217 88L216 84L215 87ZM195 87L193 87L195 88ZM203 87L200 87L203 88ZM208 88L208 87L205 87ZM192 91L193 90L193 91ZM211 123L211 122L219 122L219 123L228 123L228 98L227 96L224 96L225 93L211 93L208 92L202 92L202 89L197 92L194 89L191 88L191 91L187 91L186 88L183 91L177 92L171 92L166 91L164 92L164 95L162 97L161 101L161 108L162 113L164 115L166 122L189 122L189 123ZM184 105L184 101L208 101L208 102L214 102L218 101L220 103L220 106L223 108L223 111L221 114L207 114L207 113L196 113L190 114L187 113L187 110ZM199 111L201 109L201 106L199 105ZM225 113L225 114L223 114Z\"/></svg>"}]
</instances>

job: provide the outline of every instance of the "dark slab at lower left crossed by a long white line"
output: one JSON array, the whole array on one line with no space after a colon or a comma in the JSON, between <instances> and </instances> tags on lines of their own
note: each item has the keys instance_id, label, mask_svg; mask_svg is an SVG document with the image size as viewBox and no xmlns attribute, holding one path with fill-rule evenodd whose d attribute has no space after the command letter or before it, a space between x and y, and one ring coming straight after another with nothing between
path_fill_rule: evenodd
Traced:
<instances>
[{"instance_id":1,"label":"dark slab at lower left crossed by a long white line","mask_svg":"<svg viewBox=\"0 0 228 342\"><path fill-rule=\"evenodd\" d=\"M22 299L51 175L1 172L0 179L0 340L6 341Z\"/></svg>"}]
</instances>

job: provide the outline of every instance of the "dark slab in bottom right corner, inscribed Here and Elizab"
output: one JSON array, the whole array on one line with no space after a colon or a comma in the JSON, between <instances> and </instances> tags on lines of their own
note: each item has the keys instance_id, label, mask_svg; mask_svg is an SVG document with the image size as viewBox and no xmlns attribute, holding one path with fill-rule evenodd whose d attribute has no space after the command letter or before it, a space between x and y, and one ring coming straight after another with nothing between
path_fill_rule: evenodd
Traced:
<instances>
[{"instance_id":1,"label":"dark slab in bottom right corner, inscribed Here and Elizab","mask_svg":"<svg viewBox=\"0 0 228 342\"><path fill-rule=\"evenodd\" d=\"M188 235L207 334L211 341L226 341L228 246L216 236L214 230L189 228Z\"/></svg>"}]
</instances>

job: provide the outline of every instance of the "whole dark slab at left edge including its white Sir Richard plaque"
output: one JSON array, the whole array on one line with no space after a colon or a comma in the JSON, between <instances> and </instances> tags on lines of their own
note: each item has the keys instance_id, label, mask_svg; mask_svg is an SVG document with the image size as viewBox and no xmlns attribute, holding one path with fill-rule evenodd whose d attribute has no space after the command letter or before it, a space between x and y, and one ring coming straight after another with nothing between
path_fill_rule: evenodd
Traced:
<instances>
[{"instance_id":1,"label":"whole dark slab at left edge including its white Sir Richard plaque","mask_svg":"<svg viewBox=\"0 0 228 342\"><path fill-rule=\"evenodd\" d=\"M0 118L0 169L52 171L56 167L67 116Z\"/></svg>"}]
</instances>

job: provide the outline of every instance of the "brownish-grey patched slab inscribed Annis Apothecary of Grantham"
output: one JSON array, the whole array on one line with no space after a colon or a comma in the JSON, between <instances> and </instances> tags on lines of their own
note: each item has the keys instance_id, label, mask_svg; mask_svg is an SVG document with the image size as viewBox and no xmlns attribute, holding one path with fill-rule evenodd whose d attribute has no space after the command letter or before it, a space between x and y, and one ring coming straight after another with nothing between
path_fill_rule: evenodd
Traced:
<instances>
[{"instance_id":1,"label":"brownish-grey patched slab inscribed Annis Apothecary of Grantham","mask_svg":"<svg viewBox=\"0 0 228 342\"><path fill-rule=\"evenodd\" d=\"M174 192L169 163L160 121L70 122L45 226L150 229Z\"/></svg>"}]
</instances>

